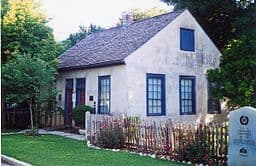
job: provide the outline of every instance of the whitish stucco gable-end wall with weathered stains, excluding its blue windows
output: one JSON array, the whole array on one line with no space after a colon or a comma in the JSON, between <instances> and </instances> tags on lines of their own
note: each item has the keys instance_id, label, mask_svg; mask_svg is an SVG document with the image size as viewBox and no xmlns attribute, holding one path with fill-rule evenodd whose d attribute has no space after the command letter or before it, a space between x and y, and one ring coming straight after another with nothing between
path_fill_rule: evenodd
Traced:
<instances>
[{"instance_id":1,"label":"whitish stucco gable-end wall with weathered stains, excluding its blue windows","mask_svg":"<svg viewBox=\"0 0 256 166\"><path fill-rule=\"evenodd\" d=\"M180 28L195 31L195 52L180 50ZM207 114L206 71L219 64L221 53L188 10L125 59L128 115L146 118L146 73L165 74L166 116L173 121L210 121ZM196 115L180 115L179 76L196 77Z\"/></svg>"}]
</instances>

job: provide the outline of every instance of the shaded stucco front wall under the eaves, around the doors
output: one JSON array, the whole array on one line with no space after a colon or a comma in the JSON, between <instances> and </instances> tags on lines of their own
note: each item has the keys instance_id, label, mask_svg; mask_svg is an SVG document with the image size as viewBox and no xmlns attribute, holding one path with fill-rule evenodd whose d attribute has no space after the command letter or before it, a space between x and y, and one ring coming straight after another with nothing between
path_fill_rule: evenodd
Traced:
<instances>
[{"instance_id":1,"label":"shaded stucco front wall under the eaves, around the doors","mask_svg":"<svg viewBox=\"0 0 256 166\"><path fill-rule=\"evenodd\" d=\"M110 95L110 111L113 114L120 114L127 111L127 88L126 88L126 73L125 65L93 68L85 70L74 70L59 73L57 77L57 89L61 94L61 100L58 100L58 105L64 108L65 105L65 80L73 78L74 92L75 79L84 78L85 81L85 104L93 107L93 102L96 101L96 109L98 104L98 77L110 75L111 79L111 95ZM59 96L59 95L58 95ZM76 95L74 95L76 96ZM89 96L93 96L94 101L89 101ZM73 106L74 106L73 102Z\"/></svg>"}]
</instances>

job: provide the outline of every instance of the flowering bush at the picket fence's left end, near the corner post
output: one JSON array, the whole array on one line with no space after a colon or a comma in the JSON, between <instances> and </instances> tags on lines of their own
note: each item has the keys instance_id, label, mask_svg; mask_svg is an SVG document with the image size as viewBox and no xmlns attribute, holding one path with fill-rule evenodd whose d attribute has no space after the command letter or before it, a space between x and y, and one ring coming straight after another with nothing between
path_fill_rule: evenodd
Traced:
<instances>
[{"instance_id":1,"label":"flowering bush at the picket fence's left end, near the corner post","mask_svg":"<svg viewBox=\"0 0 256 166\"><path fill-rule=\"evenodd\" d=\"M124 133L120 123L104 122L98 134L97 146L102 148L120 149L124 145Z\"/></svg>"}]
</instances>

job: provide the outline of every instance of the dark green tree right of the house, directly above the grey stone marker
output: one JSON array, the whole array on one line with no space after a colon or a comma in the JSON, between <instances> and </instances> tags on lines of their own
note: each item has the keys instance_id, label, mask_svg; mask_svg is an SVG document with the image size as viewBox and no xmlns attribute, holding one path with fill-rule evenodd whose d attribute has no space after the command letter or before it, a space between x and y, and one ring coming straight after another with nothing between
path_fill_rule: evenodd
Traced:
<instances>
[{"instance_id":1,"label":"dark green tree right of the house, directly above the grey stone marker","mask_svg":"<svg viewBox=\"0 0 256 166\"><path fill-rule=\"evenodd\" d=\"M207 72L217 99L227 98L231 108L256 107L256 33L232 40L223 52L220 68Z\"/></svg>"}]
</instances>

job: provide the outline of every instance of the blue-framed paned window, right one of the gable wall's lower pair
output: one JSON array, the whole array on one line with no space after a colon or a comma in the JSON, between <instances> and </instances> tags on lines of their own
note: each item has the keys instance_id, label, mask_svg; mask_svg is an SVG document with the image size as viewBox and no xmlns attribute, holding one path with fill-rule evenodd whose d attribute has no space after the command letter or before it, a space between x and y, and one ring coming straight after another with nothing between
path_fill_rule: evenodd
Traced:
<instances>
[{"instance_id":1,"label":"blue-framed paned window, right one of the gable wall's lower pair","mask_svg":"<svg viewBox=\"0 0 256 166\"><path fill-rule=\"evenodd\" d=\"M195 77L180 76L180 114L196 114Z\"/></svg>"}]
</instances>

